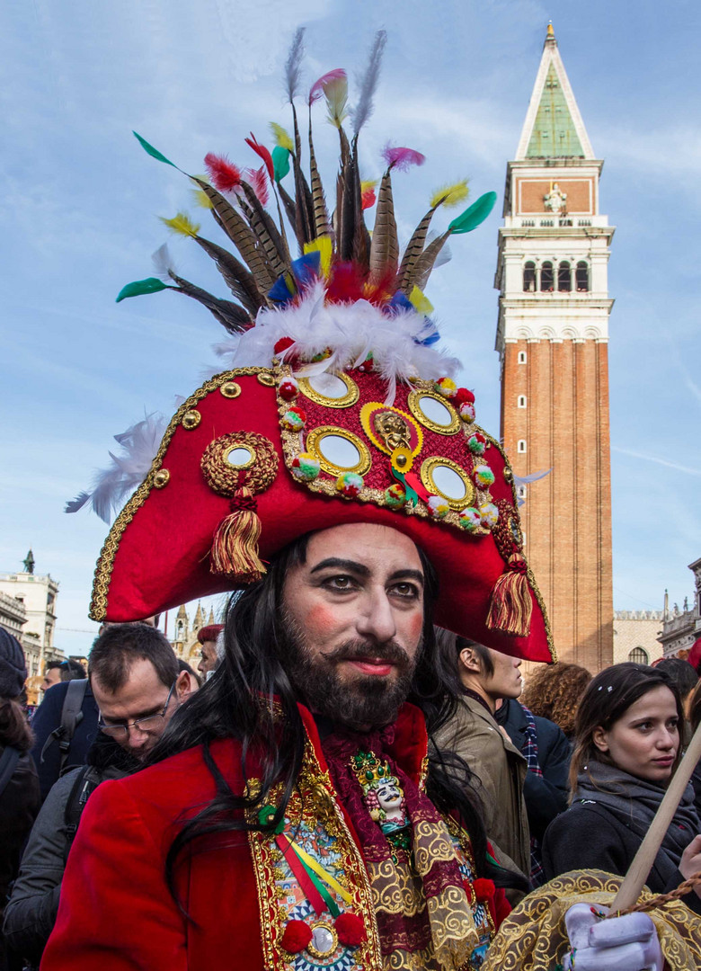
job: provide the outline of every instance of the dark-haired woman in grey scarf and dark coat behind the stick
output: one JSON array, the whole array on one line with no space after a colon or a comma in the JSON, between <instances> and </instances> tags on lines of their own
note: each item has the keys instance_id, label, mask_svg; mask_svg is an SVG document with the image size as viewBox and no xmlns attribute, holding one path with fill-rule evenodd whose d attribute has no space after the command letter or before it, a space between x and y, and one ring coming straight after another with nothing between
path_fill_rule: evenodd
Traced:
<instances>
[{"instance_id":1,"label":"dark-haired woman in grey scarf and dark coat behind the stick","mask_svg":"<svg viewBox=\"0 0 701 971\"><path fill-rule=\"evenodd\" d=\"M626 662L592 680L575 725L572 805L543 844L549 879L585 868L626 873L679 764L683 720L676 687L657 669ZM647 881L653 893L701 870L700 831L689 784ZM684 903L701 913L697 891Z\"/></svg>"}]
</instances>

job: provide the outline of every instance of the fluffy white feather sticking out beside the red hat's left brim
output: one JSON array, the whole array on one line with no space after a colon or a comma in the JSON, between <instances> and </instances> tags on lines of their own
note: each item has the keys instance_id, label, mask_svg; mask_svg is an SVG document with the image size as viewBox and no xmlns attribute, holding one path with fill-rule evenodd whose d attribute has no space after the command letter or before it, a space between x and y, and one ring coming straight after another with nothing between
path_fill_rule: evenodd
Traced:
<instances>
[{"instance_id":1,"label":"fluffy white feather sticking out beside the red hat's left brim","mask_svg":"<svg viewBox=\"0 0 701 971\"><path fill-rule=\"evenodd\" d=\"M167 427L162 415L147 415L126 431L115 435L122 453L110 452L112 465L98 472L90 492L81 492L66 504L67 513L76 513L84 505L92 507L100 519L110 522L112 514L137 485L141 485L150 470Z\"/></svg>"}]
</instances>

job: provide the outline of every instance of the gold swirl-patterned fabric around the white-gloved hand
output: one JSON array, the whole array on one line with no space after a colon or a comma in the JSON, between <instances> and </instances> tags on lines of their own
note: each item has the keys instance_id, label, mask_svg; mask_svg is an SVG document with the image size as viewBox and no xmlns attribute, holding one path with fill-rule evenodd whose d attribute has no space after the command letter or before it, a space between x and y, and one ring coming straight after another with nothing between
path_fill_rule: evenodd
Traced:
<instances>
[{"instance_id":1,"label":"gold swirl-patterned fabric around the white-gloved hand","mask_svg":"<svg viewBox=\"0 0 701 971\"><path fill-rule=\"evenodd\" d=\"M551 971L569 949L564 921L569 908L609 906L621 883L603 870L573 870L529 893L502 923L482 971ZM651 896L646 888L641 899ZM701 967L701 918L679 900L649 914L670 971Z\"/></svg>"}]
</instances>

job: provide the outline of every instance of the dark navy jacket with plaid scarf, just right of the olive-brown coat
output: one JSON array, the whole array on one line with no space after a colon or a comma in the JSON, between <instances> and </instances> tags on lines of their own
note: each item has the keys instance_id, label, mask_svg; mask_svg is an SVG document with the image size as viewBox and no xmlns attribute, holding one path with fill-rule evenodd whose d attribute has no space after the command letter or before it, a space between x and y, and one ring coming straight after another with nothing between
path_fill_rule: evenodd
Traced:
<instances>
[{"instance_id":1,"label":"dark navy jacket with plaid scarf, just right of the olive-brown coat","mask_svg":"<svg viewBox=\"0 0 701 971\"><path fill-rule=\"evenodd\" d=\"M543 883L541 844L551 821L567 809L570 743L554 721L533 715L517 698L504 698L494 718L526 760L523 798L531 834L531 887Z\"/></svg>"}]
</instances>

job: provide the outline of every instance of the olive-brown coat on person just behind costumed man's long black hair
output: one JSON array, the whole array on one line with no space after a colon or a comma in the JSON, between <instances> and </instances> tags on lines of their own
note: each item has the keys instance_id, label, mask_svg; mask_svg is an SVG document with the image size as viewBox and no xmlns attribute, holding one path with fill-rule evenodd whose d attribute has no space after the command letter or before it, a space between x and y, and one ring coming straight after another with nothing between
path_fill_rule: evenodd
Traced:
<instances>
[{"instance_id":1,"label":"olive-brown coat on person just behind costumed man's long black hair","mask_svg":"<svg viewBox=\"0 0 701 971\"><path fill-rule=\"evenodd\" d=\"M527 877L530 835L523 799L525 758L484 705L469 696L460 699L454 718L438 733L437 743L464 758L477 776L487 836Z\"/></svg>"}]
</instances>

